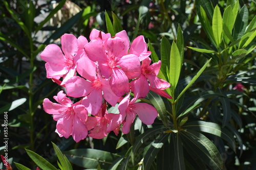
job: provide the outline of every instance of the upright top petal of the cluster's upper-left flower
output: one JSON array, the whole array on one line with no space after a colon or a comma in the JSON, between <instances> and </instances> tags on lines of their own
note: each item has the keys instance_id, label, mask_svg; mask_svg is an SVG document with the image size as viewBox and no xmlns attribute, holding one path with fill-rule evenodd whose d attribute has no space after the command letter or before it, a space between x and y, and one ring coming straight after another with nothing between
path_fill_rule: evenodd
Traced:
<instances>
[{"instance_id":1,"label":"upright top petal of the cluster's upper-left flower","mask_svg":"<svg viewBox=\"0 0 256 170\"><path fill-rule=\"evenodd\" d=\"M73 34L64 34L61 36L61 48L63 53L68 56L75 56L78 51L77 39Z\"/></svg>"}]
</instances>

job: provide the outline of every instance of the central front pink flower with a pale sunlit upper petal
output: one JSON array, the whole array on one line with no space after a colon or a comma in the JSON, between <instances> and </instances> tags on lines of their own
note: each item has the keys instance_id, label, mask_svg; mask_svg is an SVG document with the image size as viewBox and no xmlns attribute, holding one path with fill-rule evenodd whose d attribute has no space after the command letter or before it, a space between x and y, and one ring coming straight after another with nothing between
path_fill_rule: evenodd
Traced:
<instances>
[{"instance_id":1,"label":"central front pink flower with a pale sunlit upper petal","mask_svg":"<svg viewBox=\"0 0 256 170\"><path fill-rule=\"evenodd\" d=\"M87 65L87 67L84 67ZM111 89L109 80L96 74L96 65L86 56L77 61L77 71L85 79L74 76L66 82L67 94L74 98L86 96L82 100L88 112L95 115L102 105L102 92L106 102L115 106L118 97ZM87 79L87 80L86 80Z\"/></svg>"}]
</instances>

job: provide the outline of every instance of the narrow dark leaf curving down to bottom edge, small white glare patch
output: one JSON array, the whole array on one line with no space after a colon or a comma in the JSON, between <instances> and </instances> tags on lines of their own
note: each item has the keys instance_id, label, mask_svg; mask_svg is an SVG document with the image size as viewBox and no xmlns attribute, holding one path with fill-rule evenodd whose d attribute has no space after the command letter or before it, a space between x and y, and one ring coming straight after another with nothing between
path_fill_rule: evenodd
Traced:
<instances>
[{"instance_id":1,"label":"narrow dark leaf curving down to bottom edge, small white glare patch","mask_svg":"<svg viewBox=\"0 0 256 170\"><path fill-rule=\"evenodd\" d=\"M168 133L161 134L160 137L152 143L151 147L147 150L145 157L143 159L144 169L150 169L152 162L155 161L156 155L161 150L163 144L166 142L169 135L170 134Z\"/></svg>"}]
</instances>

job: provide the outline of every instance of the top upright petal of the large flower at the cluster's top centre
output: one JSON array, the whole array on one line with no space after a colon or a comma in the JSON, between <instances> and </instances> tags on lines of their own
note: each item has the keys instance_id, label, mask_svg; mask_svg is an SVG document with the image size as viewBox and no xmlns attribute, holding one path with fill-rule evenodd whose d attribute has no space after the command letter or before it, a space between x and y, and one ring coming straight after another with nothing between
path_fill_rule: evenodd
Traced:
<instances>
[{"instance_id":1,"label":"top upright petal of the large flower at the cluster's top centre","mask_svg":"<svg viewBox=\"0 0 256 170\"><path fill-rule=\"evenodd\" d=\"M106 47L108 49L109 58L117 59L127 54L127 51L125 51L124 40L119 37L108 39Z\"/></svg>"}]
</instances>

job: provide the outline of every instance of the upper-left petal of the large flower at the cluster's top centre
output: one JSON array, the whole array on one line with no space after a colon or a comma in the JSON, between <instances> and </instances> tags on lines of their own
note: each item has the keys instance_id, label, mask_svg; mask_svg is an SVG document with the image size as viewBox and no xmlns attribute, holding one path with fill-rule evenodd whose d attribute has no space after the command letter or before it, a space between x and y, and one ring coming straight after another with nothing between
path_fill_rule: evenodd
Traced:
<instances>
[{"instance_id":1,"label":"upper-left petal of the large flower at the cluster's top centre","mask_svg":"<svg viewBox=\"0 0 256 170\"><path fill-rule=\"evenodd\" d=\"M100 38L94 38L86 44L84 51L92 61L98 61L99 63L106 63L108 61L108 56L103 47L103 41Z\"/></svg>"}]
</instances>

